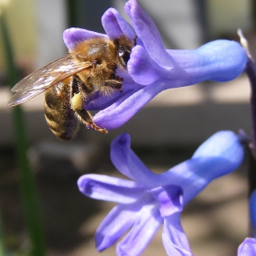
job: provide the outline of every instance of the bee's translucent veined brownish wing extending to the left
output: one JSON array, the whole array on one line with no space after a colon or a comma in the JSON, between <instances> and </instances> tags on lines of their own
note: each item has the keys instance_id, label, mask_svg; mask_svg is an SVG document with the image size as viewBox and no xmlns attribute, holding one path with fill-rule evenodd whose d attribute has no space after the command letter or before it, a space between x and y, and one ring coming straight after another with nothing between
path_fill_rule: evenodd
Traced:
<instances>
[{"instance_id":1,"label":"bee's translucent veined brownish wing extending to the left","mask_svg":"<svg viewBox=\"0 0 256 256\"><path fill-rule=\"evenodd\" d=\"M12 91L16 93L8 102L7 106L16 106L27 101L43 91L48 90L52 85L55 85L84 69L89 69L91 66L90 61L80 62L73 59L70 54L61 59L57 59L28 75L23 80L20 80L13 87Z\"/></svg>"}]
</instances>

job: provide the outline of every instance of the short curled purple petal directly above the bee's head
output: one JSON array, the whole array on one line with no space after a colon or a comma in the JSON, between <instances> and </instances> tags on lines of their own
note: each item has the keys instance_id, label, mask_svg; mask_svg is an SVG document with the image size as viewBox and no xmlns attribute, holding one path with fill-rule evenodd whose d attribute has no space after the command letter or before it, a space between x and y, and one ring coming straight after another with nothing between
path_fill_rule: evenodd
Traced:
<instances>
[{"instance_id":1,"label":"short curled purple petal directly above the bee's head","mask_svg":"<svg viewBox=\"0 0 256 256\"><path fill-rule=\"evenodd\" d=\"M133 27L114 8L109 8L101 18L102 26L107 35L113 39L124 34L133 41L135 32Z\"/></svg>"}]
</instances>

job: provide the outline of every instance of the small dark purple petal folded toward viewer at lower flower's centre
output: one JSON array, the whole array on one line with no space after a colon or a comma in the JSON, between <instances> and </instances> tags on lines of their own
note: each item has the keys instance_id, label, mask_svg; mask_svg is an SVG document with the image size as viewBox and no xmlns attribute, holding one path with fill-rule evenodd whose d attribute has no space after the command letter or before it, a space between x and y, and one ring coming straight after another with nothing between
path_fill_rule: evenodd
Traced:
<instances>
[{"instance_id":1,"label":"small dark purple petal folded toward viewer at lower flower's centre","mask_svg":"<svg viewBox=\"0 0 256 256\"><path fill-rule=\"evenodd\" d=\"M162 218L183 210L183 191L175 185L155 187L150 190L159 203L159 211Z\"/></svg>"}]
</instances>

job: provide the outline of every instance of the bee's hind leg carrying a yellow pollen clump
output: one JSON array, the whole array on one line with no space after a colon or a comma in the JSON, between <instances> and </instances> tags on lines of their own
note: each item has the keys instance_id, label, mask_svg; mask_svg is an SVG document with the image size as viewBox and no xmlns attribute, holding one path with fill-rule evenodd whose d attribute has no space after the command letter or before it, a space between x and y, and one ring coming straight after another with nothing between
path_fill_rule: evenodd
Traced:
<instances>
[{"instance_id":1,"label":"bee's hind leg carrying a yellow pollen clump","mask_svg":"<svg viewBox=\"0 0 256 256\"><path fill-rule=\"evenodd\" d=\"M70 84L70 107L76 113L76 116L80 120L81 123L84 123L86 126L91 129L100 132L100 133L108 133L105 128L99 127L96 123L94 123L91 113L83 108L83 97L80 93L79 83L80 80L77 77L74 77L71 80Z\"/></svg>"}]
</instances>

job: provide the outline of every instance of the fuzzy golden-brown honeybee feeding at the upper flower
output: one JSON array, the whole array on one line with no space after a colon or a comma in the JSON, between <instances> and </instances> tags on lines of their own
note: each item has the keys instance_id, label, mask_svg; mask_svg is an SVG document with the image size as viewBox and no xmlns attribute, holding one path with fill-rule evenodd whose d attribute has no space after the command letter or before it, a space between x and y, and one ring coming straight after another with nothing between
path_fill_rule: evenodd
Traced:
<instances>
[{"instance_id":1,"label":"fuzzy golden-brown honeybee feeding at the upper flower","mask_svg":"<svg viewBox=\"0 0 256 256\"><path fill-rule=\"evenodd\" d=\"M95 37L80 41L68 55L20 80L7 105L16 106L46 91L45 117L59 139L72 139L80 122L107 133L93 122L84 106L94 91L103 95L122 92L123 79L116 75L116 69L126 69L133 46L134 42L124 35L113 40Z\"/></svg>"}]
</instances>

